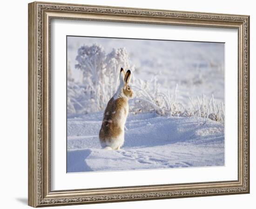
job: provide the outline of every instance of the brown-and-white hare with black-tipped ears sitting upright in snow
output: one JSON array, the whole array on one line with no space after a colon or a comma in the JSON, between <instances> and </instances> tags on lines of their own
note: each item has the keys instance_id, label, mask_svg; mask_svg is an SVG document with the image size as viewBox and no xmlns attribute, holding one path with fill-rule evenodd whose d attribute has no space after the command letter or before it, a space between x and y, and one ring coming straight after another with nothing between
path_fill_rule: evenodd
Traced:
<instances>
[{"instance_id":1,"label":"brown-and-white hare with black-tipped ears sitting upright in snow","mask_svg":"<svg viewBox=\"0 0 256 209\"><path fill-rule=\"evenodd\" d=\"M128 85L131 71L126 73L121 68L120 84L114 96L108 101L104 118L99 133L102 148L119 150L124 143L124 125L128 115L129 98L133 97L133 91Z\"/></svg>"}]
</instances>

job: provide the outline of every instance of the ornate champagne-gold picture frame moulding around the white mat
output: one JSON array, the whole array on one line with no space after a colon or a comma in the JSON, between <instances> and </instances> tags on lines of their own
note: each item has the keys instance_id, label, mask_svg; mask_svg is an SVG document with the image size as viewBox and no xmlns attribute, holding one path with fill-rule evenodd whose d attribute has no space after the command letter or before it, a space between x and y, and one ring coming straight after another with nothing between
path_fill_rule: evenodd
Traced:
<instances>
[{"instance_id":1,"label":"ornate champagne-gold picture frame moulding around the white mat","mask_svg":"<svg viewBox=\"0 0 256 209\"><path fill-rule=\"evenodd\" d=\"M52 191L50 183L50 27L52 19L238 29L237 181ZM120 185L121 186L121 185ZM249 16L28 4L28 204L33 207L249 193Z\"/></svg>"}]
</instances>

